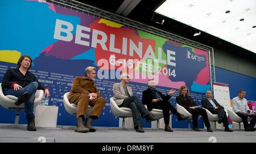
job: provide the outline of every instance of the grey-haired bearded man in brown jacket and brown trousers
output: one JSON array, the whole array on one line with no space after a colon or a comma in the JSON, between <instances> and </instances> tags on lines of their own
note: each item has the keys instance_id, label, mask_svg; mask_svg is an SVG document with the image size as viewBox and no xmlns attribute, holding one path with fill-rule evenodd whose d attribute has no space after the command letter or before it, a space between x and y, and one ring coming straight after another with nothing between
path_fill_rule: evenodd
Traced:
<instances>
[{"instance_id":1,"label":"grey-haired bearded man in brown jacket and brown trousers","mask_svg":"<svg viewBox=\"0 0 256 154\"><path fill-rule=\"evenodd\" d=\"M85 69L85 75L76 77L72 83L68 100L70 103L77 105L77 127L75 128L75 132L96 131L96 129L91 126L91 122L100 117L101 111L106 104L106 100L101 97L100 92L94 84L95 78L96 68L89 66ZM82 121L85 120L88 105L92 106L93 109L84 126Z\"/></svg>"}]
</instances>

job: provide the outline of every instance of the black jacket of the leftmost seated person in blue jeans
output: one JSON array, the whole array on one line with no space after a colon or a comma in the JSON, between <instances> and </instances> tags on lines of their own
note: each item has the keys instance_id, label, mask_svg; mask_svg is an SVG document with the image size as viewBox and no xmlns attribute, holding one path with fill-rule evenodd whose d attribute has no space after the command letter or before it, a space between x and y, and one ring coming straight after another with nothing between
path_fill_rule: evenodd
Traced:
<instances>
[{"instance_id":1,"label":"black jacket of the leftmost seated person in blue jeans","mask_svg":"<svg viewBox=\"0 0 256 154\"><path fill-rule=\"evenodd\" d=\"M27 70L27 73L23 75L18 68L8 69L3 76L2 80L2 88L13 88L14 84L18 84L22 87L27 86L31 82L38 82L38 89L44 90L46 89L37 79L36 76Z\"/></svg>"}]
</instances>

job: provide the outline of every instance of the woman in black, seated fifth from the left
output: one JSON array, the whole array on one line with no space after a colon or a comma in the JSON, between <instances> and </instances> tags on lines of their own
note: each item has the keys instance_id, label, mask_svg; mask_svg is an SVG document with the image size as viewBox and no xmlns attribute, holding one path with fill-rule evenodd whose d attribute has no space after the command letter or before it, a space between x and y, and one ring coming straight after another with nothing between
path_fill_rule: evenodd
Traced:
<instances>
[{"instance_id":1,"label":"woman in black, seated fifth from the left","mask_svg":"<svg viewBox=\"0 0 256 154\"><path fill-rule=\"evenodd\" d=\"M197 119L199 117L199 114L203 117L204 124L207 127L208 132L212 132L212 129L210 128L210 122L208 119L207 112L202 109L200 106L196 106L196 103L194 100L188 95L189 90L187 86L181 86L179 88L179 95L176 97L176 102L183 106L186 110L188 110L189 113L192 114L192 121L193 121L193 130L200 131L197 127Z\"/></svg>"}]
</instances>

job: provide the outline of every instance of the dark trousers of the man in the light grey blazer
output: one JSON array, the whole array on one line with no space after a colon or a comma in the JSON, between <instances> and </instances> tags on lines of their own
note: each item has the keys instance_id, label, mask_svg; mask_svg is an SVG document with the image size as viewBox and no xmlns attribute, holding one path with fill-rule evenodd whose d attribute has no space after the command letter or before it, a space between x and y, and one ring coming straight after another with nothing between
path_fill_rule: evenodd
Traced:
<instances>
[{"instance_id":1,"label":"dark trousers of the man in the light grey blazer","mask_svg":"<svg viewBox=\"0 0 256 154\"><path fill-rule=\"evenodd\" d=\"M141 103L136 95L132 95L123 99L123 103L119 105L119 107L128 107L131 109L134 128L137 127L139 124L142 124L141 116L145 118L145 116L149 114L147 109L144 107L144 105Z\"/></svg>"}]
</instances>

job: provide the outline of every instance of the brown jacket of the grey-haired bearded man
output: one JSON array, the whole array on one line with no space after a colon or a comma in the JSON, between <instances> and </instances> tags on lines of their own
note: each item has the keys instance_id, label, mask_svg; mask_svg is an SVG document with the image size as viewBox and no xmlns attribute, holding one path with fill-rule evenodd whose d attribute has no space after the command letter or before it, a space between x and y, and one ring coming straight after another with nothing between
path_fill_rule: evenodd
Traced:
<instances>
[{"instance_id":1,"label":"brown jacket of the grey-haired bearded man","mask_svg":"<svg viewBox=\"0 0 256 154\"><path fill-rule=\"evenodd\" d=\"M98 91L96 85L93 81L90 81L89 77L76 77L72 82L71 91L68 94L68 99L72 97L72 95L79 94L88 94L88 93L96 93L97 98L101 97L100 91Z\"/></svg>"}]
</instances>

